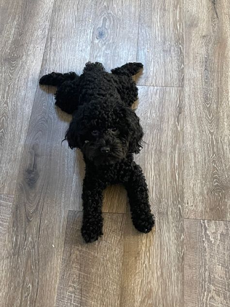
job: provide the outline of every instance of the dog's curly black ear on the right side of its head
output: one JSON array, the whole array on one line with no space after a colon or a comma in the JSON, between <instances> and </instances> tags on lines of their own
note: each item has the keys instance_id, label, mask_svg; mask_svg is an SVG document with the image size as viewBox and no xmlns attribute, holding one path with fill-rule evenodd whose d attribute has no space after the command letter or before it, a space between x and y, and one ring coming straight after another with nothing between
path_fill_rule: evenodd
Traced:
<instances>
[{"instance_id":1,"label":"dog's curly black ear on the right side of its head","mask_svg":"<svg viewBox=\"0 0 230 307\"><path fill-rule=\"evenodd\" d=\"M139 153L142 148L142 137L144 135L142 127L140 125L139 117L131 108L126 109L126 121L128 123L128 135L129 135L129 151L131 153Z\"/></svg>"}]
</instances>

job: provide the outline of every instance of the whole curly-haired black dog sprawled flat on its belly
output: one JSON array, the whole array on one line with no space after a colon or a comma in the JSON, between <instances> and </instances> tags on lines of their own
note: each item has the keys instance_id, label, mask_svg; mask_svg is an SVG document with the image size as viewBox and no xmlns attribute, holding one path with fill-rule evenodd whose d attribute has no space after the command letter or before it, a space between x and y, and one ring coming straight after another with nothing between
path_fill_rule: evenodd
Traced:
<instances>
[{"instance_id":1,"label":"whole curly-haired black dog sprawled flat on its belly","mask_svg":"<svg viewBox=\"0 0 230 307\"><path fill-rule=\"evenodd\" d=\"M102 191L108 185L124 184L136 229L147 233L154 225L146 180L133 161L133 153L142 148L143 131L131 109L138 92L131 76L141 68L141 63L128 63L108 73L96 62L87 63L81 76L52 72L40 79L42 85L57 86L56 105L73 114L66 140L71 149L82 151L86 164L82 192L86 242L102 235Z\"/></svg>"}]
</instances>

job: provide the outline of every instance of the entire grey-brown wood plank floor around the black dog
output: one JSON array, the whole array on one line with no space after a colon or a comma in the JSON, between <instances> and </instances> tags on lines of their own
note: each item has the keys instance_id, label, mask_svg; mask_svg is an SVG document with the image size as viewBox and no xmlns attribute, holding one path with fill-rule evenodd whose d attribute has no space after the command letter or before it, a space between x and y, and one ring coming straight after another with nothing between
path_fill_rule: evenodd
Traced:
<instances>
[{"instance_id":1,"label":"entire grey-brown wood plank floor around the black dog","mask_svg":"<svg viewBox=\"0 0 230 307\"><path fill-rule=\"evenodd\" d=\"M0 306L230 306L230 1L0 0ZM82 155L39 77L144 64L137 78L155 229L105 191L80 235Z\"/></svg>"}]
</instances>

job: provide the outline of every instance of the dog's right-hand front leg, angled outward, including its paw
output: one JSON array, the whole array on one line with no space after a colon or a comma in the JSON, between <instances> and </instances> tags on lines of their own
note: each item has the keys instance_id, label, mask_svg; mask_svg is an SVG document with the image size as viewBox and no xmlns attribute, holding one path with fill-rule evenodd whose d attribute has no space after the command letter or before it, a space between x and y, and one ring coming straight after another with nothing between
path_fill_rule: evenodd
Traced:
<instances>
[{"instance_id":1,"label":"dog's right-hand front leg, angled outward, including its paw","mask_svg":"<svg viewBox=\"0 0 230 307\"><path fill-rule=\"evenodd\" d=\"M141 167L135 162L131 164L129 180L125 183L125 187L129 197L133 225L141 232L149 232L154 226L155 219L148 202L145 176Z\"/></svg>"}]
</instances>

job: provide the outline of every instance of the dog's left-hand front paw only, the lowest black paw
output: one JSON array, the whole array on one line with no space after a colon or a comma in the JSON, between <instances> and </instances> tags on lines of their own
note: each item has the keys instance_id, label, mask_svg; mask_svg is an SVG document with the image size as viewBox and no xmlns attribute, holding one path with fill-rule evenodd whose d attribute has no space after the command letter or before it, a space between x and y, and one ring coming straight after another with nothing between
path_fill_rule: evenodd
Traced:
<instances>
[{"instance_id":1,"label":"dog's left-hand front paw only, the lowest black paw","mask_svg":"<svg viewBox=\"0 0 230 307\"><path fill-rule=\"evenodd\" d=\"M102 233L102 221L84 221L82 224L82 238L85 240L86 243L96 241L100 236L103 235Z\"/></svg>"}]
</instances>

